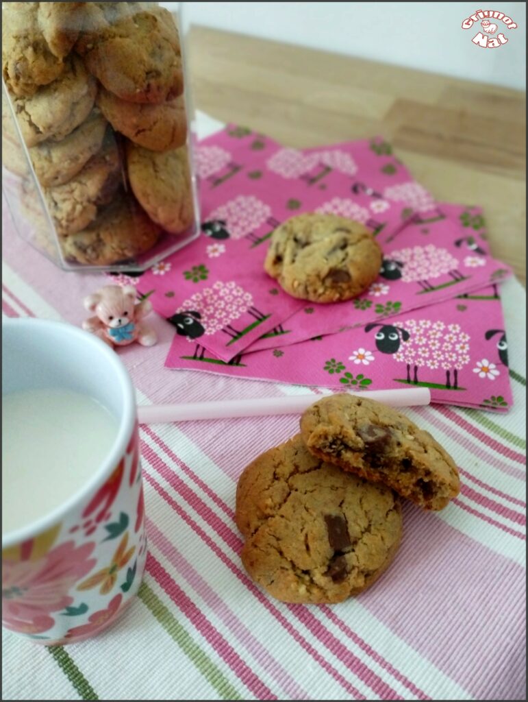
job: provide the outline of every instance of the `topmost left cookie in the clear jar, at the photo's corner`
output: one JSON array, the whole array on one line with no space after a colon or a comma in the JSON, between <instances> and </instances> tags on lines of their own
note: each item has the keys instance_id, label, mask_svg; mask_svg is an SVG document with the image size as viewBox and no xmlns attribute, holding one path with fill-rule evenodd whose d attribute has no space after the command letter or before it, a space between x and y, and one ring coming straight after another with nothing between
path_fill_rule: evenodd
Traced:
<instances>
[{"instance_id":1,"label":"topmost left cookie in the clear jar, at the photo's corner","mask_svg":"<svg viewBox=\"0 0 528 702\"><path fill-rule=\"evenodd\" d=\"M2 3L2 71L15 95L33 95L63 72L79 34L77 2Z\"/></svg>"}]
</instances>

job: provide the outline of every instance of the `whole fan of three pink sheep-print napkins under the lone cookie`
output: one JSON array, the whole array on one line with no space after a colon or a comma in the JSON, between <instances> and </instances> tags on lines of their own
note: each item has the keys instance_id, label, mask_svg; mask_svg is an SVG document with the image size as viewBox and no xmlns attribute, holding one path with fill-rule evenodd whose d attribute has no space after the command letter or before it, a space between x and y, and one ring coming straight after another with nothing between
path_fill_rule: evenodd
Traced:
<instances>
[{"instance_id":1,"label":"whole fan of three pink sheep-print napkins under the lone cookie","mask_svg":"<svg viewBox=\"0 0 528 702\"><path fill-rule=\"evenodd\" d=\"M510 404L499 296L510 270L489 256L480 208L436 203L382 138L295 150L229 125L196 161L201 236L127 281L174 326L166 366L328 388L414 383L435 402ZM264 272L273 229L306 211L377 237L379 279L359 298L296 300Z\"/></svg>"}]
</instances>

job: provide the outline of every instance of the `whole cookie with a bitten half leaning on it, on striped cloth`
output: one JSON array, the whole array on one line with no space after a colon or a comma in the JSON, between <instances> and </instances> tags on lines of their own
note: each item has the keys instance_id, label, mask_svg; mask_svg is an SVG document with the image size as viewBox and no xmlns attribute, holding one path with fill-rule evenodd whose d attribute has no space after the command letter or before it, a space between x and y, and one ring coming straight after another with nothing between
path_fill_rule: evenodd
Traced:
<instances>
[{"instance_id":1,"label":"whole cookie with a bitten half leaning on it, on striped cloth","mask_svg":"<svg viewBox=\"0 0 528 702\"><path fill-rule=\"evenodd\" d=\"M428 432L364 397L325 397L300 428L238 481L242 561L278 600L341 602L372 585L395 557L400 498L440 510L459 493L459 474Z\"/></svg>"}]
</instances>

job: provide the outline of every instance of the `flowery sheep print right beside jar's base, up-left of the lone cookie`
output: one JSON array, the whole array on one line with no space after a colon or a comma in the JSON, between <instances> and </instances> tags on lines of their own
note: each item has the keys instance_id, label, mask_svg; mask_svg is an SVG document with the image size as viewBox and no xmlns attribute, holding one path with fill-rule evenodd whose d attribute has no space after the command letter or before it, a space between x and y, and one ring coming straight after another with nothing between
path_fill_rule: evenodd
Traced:
<instances>
[{"instance_id":1,"label":"flowery sheep print right beside jar's base, up-left of the lone cookie","mask_svg":"<svg viewBox=\"0 0 528 702\"><path fill-rule=\"evenodd\" d=\"M275 229L280 224L271 216L271 207L254 195L238 195L213 210L202 231L212 239L243 239L257 242L255 233L262 225Z\"/></svg>"}]
</instances>

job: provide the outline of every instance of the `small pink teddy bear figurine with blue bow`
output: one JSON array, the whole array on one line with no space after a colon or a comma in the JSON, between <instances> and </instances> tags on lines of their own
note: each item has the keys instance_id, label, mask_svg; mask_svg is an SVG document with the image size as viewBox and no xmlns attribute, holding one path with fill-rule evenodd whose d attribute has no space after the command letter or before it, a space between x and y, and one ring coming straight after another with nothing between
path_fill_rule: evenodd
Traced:
<instances>
[{"instance_id":1,"label":"small pink teddy bear figurine with blue bow","mask_svg":"<svg viewBox=\"0 0 528 702\"><path fill-rule=\"evenodd\" d=\"M95 317L85 319L83 329L98 336L112 348L128 346L137 341L142 346L152 346L157 341L156 332L142 322L151 312L148 300L135 303L136 289L132 285L105 285L83 300L88 312Z\"/></svg>"}]
</instances>

